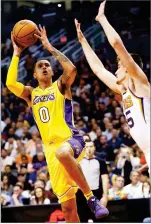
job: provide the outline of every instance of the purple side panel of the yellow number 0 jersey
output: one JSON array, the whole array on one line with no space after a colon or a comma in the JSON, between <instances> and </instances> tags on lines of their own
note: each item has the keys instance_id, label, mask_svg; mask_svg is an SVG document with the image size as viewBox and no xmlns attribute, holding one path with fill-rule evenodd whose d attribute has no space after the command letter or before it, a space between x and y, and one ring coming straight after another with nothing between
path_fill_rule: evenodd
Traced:
<instances>
[{"instance_id":1,"label":"purple side panel of the yellow number 0 jersey","mask_svg":"<svg viewBox=\"0 0 151 224\"><path fill-rule=\"evenodd\" d=\"M77 128L75 128L73 126L73 123L72 123L73 108L72 108L71 100L65 99L64 107L65 107L64 108L64 111L65 111L65 115L64 115L65 121L66 121L68 127L71 129L73 135L78 135L79 131L78 131Z\"/></svg>"}]
</instances>

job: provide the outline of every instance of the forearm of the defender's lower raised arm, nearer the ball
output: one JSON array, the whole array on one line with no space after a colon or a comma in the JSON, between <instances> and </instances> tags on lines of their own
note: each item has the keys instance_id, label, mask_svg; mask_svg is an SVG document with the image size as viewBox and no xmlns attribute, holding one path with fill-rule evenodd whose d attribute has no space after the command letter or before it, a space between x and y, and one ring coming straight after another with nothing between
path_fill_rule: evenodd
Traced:
<instances>
[{"instance_id":1,"label":"forearm of the defender's lower raised arm, nearer the ball","mask_svg":"<svg viewBox=\"0 0 151 224\"><path fill-rule=\"evenodd\" d=\"M83 39L81 41L81 45L85 54L85 57L94 72L96 74L96 70L99 69L99 67L104 68L104 65L102 64L101 60L98 58L98 56L95 54L93 49L90 47L89 43L86 39Z\"/></svg>"}]
</instances>

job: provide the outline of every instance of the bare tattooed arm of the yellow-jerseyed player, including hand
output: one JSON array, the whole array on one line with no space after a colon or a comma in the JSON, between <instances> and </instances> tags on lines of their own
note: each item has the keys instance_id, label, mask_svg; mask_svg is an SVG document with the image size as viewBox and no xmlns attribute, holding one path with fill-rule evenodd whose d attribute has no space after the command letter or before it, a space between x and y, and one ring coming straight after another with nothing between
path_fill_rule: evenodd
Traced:
<instances>
[{"instance_id":1,"label":"bare tattooed arm of the yellow-jerseyed player, including hand","mask_svg":"<svg viewBox=\"0 0 151 224\"><path fill-rule=\"evenodd\" d=\"M76 67L73 65L73 63L60 51L58 51L56 48L54 48L47 38L46 29L45 27L40 27L39 35L36 35L41 41L43 46L51 53L53 54L56 59L60 62L62 65L64 72L62 76L60 77L61 83L65 85L66 87L70 87L72 83L75 80L76 76Z\"/></svg>"}]
</instances>

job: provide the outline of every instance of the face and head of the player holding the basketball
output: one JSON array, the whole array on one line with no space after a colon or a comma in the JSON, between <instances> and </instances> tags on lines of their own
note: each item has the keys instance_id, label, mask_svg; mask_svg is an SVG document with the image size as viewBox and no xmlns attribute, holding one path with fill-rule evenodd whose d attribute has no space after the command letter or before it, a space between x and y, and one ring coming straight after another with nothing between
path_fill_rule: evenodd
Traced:
<instances>
[{"instance_id":1,"label":"face and head of the player holding the basketball","mask_svg":"<svg viewBox=\"0 0 151 224\"><path fill-rule=\"evenodd\" d=\"M51 69L50 63L47 60L40 60L36 63L34 77L38 81L45 81L53 76L53 71Z\"/></svg>"}]
</instances>

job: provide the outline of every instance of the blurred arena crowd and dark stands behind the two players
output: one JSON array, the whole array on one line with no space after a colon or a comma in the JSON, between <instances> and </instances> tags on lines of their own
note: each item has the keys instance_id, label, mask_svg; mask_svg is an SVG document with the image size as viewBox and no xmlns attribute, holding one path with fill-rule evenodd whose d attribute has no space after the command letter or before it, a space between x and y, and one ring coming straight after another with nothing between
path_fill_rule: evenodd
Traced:
<instances>
[{"instance_id":1,"label":"blurred arena crowd and dark stands behind the two players","mask_svg":"<svg viewBox=\"0 0 151 224\"><path fill-rule=\"evenodd\" d=\"M63 52L77 67L77 77L72 86L75 125L94 143L95 156L105 161L110 189L118 189L117 195L109 191L109 201L150 197L148 167L142 150L129 134L122 111L121 97L109 90L91 71L78 43L74 18L106 69L115 73L116 54L109 45L101 26L95 21L100 1L2 1L1 2L1 204L3 208L25 204L38 204L37 186L41 189L42 204L57 202L51 189L43 144L39 131L25 101L14 96L6 88L7 70L13 49L10 33L16 22L22 19L34 21L46 27L51 44ZM120 34L131 53L140 54L144 72L150 80L150 1L107 1L105 14ZM34 63L45 58L51 62L54 81L62 74L55 58L43 49L40 41L27 48L21 57L18 80L25 85L36 86L33 79ZM130 177L131 171L137 177ZM117 176L124 180L120 186ZM142 192L123 194L128 184L141 186ZM143 189L148 183L148 194ZM13 200L18 192L19 204ZM41 196L42 197L42 196ZM47 200L46 200L47 199ZM33 202L34 201L34 202ZM138 202L136 202L137 204ZM135 206L136 206L135 204ZM137 213L138 215L138 213ZM135 218L135 217L134 217ZM143 221L145 215L140 221ZM7 220L10 222L10 220ZM31 220L30 220L31 221ZM46 221L46 220L45 220ZM119 220L121 221L121 220ZM137 217L135 221L138 221Z\"/></svg>"}]
</instances>

